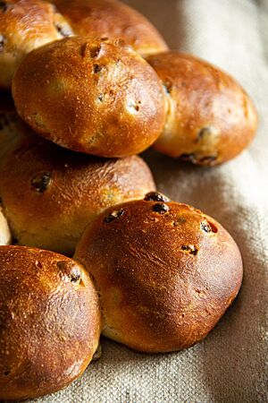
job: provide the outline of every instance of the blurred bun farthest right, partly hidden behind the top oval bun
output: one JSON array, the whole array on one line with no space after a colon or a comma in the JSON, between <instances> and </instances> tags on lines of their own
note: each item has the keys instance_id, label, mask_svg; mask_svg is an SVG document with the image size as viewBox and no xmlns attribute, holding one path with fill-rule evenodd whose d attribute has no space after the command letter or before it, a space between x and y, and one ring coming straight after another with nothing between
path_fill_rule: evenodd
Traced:
<instances>
[{"instance_id":1,"label":"blurred bun farthest right, partly hidden behind the top oval bun","mask_svg":"<svg viewBox=\"0 0 268 403\"><path fill-rule=\"evenodd\" d=\"M257 117L251 99L236 81L203 60L178 52L147 60L163 81L169 102L156 150L213 166L247 147Z\"/></svg>"}]
</instances>

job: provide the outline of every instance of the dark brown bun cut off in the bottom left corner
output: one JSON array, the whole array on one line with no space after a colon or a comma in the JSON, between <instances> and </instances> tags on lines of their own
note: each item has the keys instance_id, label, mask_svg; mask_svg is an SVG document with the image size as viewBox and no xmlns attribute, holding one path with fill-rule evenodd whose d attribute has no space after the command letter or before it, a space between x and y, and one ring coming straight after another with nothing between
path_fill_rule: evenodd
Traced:
<instances>
[{"instance_id":1,"label":"dark brown bun cut off in the bottom left corner","mask_svg":"<svg viewBox=\"0 0 268 403\"><path fill-rule=\"evenodd\" d=\"M61 390L98 345L96 289L79 263L22 246L0 247L0 399Z\"/></svg>"}]
</instances>

